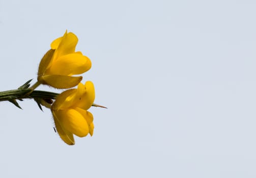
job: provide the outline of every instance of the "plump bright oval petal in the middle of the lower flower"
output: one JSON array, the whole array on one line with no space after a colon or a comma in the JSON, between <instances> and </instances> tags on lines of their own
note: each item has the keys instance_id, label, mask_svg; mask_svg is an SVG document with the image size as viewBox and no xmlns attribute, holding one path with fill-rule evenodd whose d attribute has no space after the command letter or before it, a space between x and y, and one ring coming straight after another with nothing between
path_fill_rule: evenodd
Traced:
<instances>
[{"instance_id":1,"label":"plump bright oval petal in the middle of the lower flower","mask_svg":"<svg viewBox=\"0 0 256 178\"><path fill-rule=\"evenodd\" d=\"M79 136L84 137L89 133L89 128L84 117L75 109L57 110L56 116L59 118L64 129Z\"/></svg>"}]
</instances>

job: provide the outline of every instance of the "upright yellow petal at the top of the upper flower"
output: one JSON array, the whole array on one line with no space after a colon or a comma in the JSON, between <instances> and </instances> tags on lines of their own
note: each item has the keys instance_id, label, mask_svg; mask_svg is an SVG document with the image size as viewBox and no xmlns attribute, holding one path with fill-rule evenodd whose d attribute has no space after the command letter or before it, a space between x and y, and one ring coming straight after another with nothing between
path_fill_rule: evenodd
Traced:
<instances>
[{"instance_id":1,"label":"upright yellow petal at the top of the upper flower","mask_svg":"<svg viewBox=\"0 0 256 178\"><path fill-rule=\"evenodd\" d=\"M53 41L52 47L56 47L55 53L53 55L53 60L59 58L62 55L70 54L75 52L75 47L78 42L78 38L73 33L65 33L61 40L56 39Z\"/></svg>"}]
</instances>

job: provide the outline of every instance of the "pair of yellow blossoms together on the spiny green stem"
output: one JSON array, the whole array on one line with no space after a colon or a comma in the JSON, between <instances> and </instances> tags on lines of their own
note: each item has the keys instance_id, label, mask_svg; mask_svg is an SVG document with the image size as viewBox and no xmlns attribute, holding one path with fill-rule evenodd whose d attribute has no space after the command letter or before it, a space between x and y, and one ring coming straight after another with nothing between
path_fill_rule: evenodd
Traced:
<instances>
[{"instance_id":1,"label":"pair of yellow blossoms together on the spiny green stem","mask_svg":"<svg viewBox=\"0 0 256 178\"><path fill-rule=\"evenodd\" d=\"M88 109L95 99L91 81L80 83L82 76L73 76L88 71L92 63L80 51L75 51L77 37L66 33L51 43L51 49L43 56L38 69L38 85L69 89L55 98L51 109L55 128L64 142L75 143L73 134L79 137L92 136L93 114Z\"/></svg>"}]
</instances>

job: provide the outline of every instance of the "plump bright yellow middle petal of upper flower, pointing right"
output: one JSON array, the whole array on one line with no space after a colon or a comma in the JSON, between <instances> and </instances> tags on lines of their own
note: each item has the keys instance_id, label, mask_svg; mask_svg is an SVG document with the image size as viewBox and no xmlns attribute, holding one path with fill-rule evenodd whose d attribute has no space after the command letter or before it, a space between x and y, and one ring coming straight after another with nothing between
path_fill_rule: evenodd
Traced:
<instances>
[{"instance_id":1,"label":"plump bright yellow middle petal of upper flower, pointing right","mask_svg":"<svg viewBox=\"0 0 256 178\"><path fill-rule=\"evenodd\" d=\"M91 60L79 53L63 55L53 61L51 67L45 72L54 75L76 75L88 71L92 66Z\"/></svg>"}]
</instances>

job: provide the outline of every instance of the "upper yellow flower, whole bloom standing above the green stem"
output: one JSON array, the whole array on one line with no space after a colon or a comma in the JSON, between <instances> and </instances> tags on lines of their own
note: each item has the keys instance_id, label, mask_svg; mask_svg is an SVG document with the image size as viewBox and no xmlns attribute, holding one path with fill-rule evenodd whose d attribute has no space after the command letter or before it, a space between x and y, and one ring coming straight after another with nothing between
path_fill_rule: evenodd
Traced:
<instances>
[{"instance_id":1,"label":"upper yellow flower, whole bloom standing above the green stem","mask_svg":"<svg viewBox=\"0 0 256 178\"><path fill-rule=\"evenodd\" d=\"M76 86L82 77L72 75L88 71L92 63L81 52L75 52L78 42L73 33L66 33L63 37L51 43L51 49L43 56L39 69L38 81L55 88L70 88Z\"/></svg>"}]
</instances>

